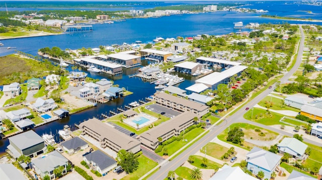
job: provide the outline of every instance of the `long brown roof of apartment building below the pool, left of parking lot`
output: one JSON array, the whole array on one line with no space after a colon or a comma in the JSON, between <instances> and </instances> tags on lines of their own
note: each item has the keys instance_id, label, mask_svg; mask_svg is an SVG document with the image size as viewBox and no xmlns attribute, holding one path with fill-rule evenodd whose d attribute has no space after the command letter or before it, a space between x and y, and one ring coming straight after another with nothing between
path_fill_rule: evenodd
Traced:
<instances>
[{"instance_id":1,"label":"long brown roof of apartment building below the pool, left of parking lot","mask_svg":"<svg viewBox=\"0 0 322 180\"><path fill-rule=\"evenodd\" d=\"M100 135L100 139L108 139L109 141L117 144L121 147L120 149L128 150L140 144L140 141L114 129L96 118L89 119L79 124L79 128L83 128L83 126L98 133Z\"/></svg>"}]
</instances>

